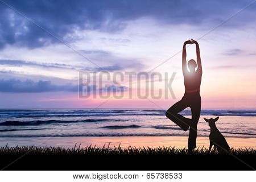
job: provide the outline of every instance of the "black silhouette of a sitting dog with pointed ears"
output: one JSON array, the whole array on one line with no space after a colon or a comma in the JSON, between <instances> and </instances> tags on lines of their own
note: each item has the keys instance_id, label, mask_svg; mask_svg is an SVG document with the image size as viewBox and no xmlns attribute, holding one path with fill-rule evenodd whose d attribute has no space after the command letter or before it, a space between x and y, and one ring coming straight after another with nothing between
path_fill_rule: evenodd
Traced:
<instances>
[{"instance_id":1,"label":"black silhouette of a sitting dog with pointed ears","mask_svg":"<svg viewBox=\"0 0 256 182\"><path fill-rule=\"evenodd\" d=\"M209 147L209 152L214 145L214 151L217 149L218 154L226 154L227 152L230 152L230 147L228 142L226 142L226 139L223 137L223 135L218 131L215 122L218 121L218 118L215 119L206 119L204 120L208 122L210 126L210 147Z\"/></svg>"}]
</instances>

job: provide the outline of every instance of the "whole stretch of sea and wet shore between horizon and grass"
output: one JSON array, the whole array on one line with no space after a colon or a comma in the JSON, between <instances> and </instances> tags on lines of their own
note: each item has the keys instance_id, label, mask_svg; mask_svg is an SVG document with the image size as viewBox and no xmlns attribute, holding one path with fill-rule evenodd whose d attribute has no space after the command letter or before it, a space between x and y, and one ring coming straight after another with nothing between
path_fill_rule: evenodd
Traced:
<instances>
[{"instance_id":1,"label":"whole stretch of sea and wet shore between horizon and grass","mask_svg":"<svg viewBox=\"0 0 256 182\"><path fill-rule=\"evenodd\" d=\"M157 109L1 109L0 147L187 146L181 130ZM181 112L191 117L190 110ZM220 119L217 128L233 148L255 148L255 110L201 110L197 147L209 146L210 127L204 118Z\"/></svg>"}]
</instances>

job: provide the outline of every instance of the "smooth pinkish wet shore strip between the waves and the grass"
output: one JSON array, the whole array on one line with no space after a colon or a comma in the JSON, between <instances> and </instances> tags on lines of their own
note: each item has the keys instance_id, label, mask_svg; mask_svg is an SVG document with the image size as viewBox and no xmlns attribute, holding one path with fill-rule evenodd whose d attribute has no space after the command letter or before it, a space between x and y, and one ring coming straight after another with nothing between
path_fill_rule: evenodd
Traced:
<instances>
[{"instance_id":1,"label":"smooth pinkish wet shore strip between the waves and the grass","mask_svg":"<svg viewBox=\"0 0 256 182\"><path fill-rule=\"evenodd\" d=\"M225 137L229 146L232 148L254 148L256 149L256 138L238 138ZM31 137L31 138L15 138L15 137L0 137L0 147L3 146L52 146L73 148L75 144L81 147L88 147L90 145L103 147L117 147L122 148L131 147L187 147L188 137L171 136L171 137ZM110 143L110 144L109 144ZM197 137L197 148L209 147L209 137Z\"/></svg>"}]
</instances>

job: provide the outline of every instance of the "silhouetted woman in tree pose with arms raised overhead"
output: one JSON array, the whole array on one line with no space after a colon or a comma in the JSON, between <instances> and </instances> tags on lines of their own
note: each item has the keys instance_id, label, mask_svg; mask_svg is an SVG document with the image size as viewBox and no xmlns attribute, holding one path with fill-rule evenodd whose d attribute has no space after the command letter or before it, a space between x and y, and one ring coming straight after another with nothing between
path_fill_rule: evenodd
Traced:
<instances>
[{"instance_id":1,"label":"silhouetted woman in tree pose with arms raised overhead","mask_svg":"<svg viewBox=\"0 0 256 182\"><path fill-rule=\"evenodd\" d=\"M196 44L196 61L191 59L188 61L187 68L187 44ZM197 70L196 70L197 67ZM184 85L185 93L181 101L177 102L166 112L166 117L171 119L176 125L178 125L184 131L187 131L189 126L189 138L188 138L188 149L193 150L196 148L196 137L197 137L197 123L199 121L200 112L201 112L201 96L200 96L200 85L202 77L202 65L199 44L191 39L187 40L183 45L183 54L182 54L182 71L184 76ZM182 115L178 114L180 111L185 108L191 108L192 118L185 118Z\"/></svg>"}]
</instances>

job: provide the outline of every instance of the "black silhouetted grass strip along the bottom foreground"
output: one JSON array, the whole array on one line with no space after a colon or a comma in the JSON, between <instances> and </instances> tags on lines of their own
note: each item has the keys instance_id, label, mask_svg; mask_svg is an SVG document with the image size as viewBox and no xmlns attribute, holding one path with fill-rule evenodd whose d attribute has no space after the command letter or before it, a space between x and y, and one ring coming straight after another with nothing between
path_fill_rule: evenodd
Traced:
<instances>
[{"instance_id":1,"label":"black silhouetted grass strip along the bottom foreground","mask_svg":"<svg viewBox=\"0 0 256 182\"><path fill-rule=\"evenodd\" d=\"M18 160L17 160L18 159ZM255 169L256 150L231 149L231 154L197 148L88 146L1 147L1 169L14 170L247 170ZM11 163L11 165L9 165Z\"/></svg>"}]
</instances>

